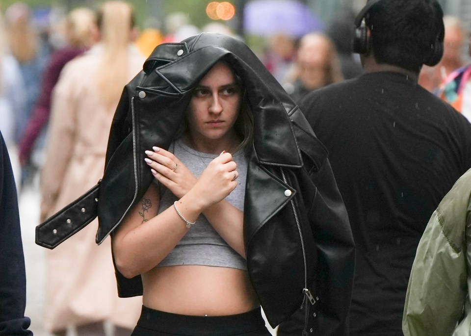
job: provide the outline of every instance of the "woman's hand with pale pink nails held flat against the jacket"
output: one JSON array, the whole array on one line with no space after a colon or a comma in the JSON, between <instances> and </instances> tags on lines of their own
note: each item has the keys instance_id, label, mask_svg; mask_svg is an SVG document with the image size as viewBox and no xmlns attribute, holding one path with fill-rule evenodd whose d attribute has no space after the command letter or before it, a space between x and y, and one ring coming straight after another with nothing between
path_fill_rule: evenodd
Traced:
<instances>
[{"instance_id":1,"label":"woman's hand with pale pink nails held flat against the jacket","mask_svg":"<svg viewBox=\"0 0 471 336\"><path fill-rule=\"evenodd\" d=\"M191 171L173 153L159 147L146 151L146 163L155 179L176 197L182 198L198 181Z\"/></svg>"}]
</instances>

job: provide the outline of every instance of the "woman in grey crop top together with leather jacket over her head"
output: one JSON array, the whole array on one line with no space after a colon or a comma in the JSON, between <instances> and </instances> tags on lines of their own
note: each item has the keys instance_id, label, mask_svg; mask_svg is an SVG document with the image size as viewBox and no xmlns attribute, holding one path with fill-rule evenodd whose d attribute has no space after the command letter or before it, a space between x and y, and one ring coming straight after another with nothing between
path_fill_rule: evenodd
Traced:
<instances>
[{"instance_id":1,"label":"woman in grey crop top together with leather jacket over her head","mask_svg":"<svg viewBox=\"0 0 471 336\"><path fill-rule=\"evenodd\" d=\"M121 96L105 174L37 229L54 248L98 215L118 292L143 295L133 336L348 335L350 227L327 153L240 40L157 46ZM64 221L70 223L63 225Z\"/></svg>"}]
</instances>

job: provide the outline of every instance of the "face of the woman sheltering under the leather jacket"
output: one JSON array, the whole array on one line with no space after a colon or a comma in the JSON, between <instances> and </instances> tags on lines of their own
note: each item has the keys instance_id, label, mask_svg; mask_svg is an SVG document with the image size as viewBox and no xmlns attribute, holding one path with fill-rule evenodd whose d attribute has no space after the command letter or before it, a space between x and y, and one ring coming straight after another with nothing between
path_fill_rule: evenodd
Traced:
<instances>
[{"instance_id":1,"label":"face of the woman sheltering under the leather jacket","mask_svg":"<svg viewBox=\"0 0 471 336\"><path fill-rule=\"evenodd\" d=\"M241 97L241 87L229 66L216 63L196 86L189 104L193 141L234 139Z\"/></svg>"}]
</instances>

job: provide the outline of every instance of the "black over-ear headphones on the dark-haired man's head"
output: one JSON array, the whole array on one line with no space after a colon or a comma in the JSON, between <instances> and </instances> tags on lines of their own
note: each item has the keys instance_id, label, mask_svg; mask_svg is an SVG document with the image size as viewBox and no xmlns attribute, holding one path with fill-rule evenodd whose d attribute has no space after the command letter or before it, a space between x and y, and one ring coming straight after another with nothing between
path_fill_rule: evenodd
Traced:
<instances>
[{"instance_id":1,"label":"black over-ear headphones on the dark-haired man's head","mask_svg":"<svg viewBox=\"0 0 471 336\"><path fill-rule=\"evenodd\" d=\"M364 54L369 50L368 37L366 36L365 16L369 9L382 0L369 0L365 7L358 13L355 18L355 36L353 37L353 52ZM431 43L430 52L424 55L423 64L434 66L443 56L443 39L445 37L445 26L443 24L443 10L437 0L433 0L433 4L438 14L437 26L438 34Z\"/></svg>"}]
</instances>

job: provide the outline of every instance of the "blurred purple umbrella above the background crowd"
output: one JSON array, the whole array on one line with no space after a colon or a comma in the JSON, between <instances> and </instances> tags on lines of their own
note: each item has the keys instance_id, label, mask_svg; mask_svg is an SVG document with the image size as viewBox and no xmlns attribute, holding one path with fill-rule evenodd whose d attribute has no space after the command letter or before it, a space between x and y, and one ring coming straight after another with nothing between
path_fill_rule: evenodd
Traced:
<instances>
[{"instance_id":1,"label":"blurred purple umbrella above the background crowd","mask_svg":"<svg viewBox=\"0 0 471 336\"><path fill-rule=\"evenodd\" d=\"M269 36L286 33L292 37L322 30L322 22L304 3L296 0L255 0L244 8L247 34Z\"/></svg>"}]
</instances>

